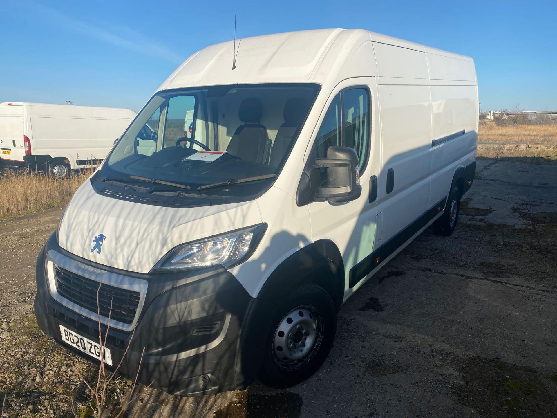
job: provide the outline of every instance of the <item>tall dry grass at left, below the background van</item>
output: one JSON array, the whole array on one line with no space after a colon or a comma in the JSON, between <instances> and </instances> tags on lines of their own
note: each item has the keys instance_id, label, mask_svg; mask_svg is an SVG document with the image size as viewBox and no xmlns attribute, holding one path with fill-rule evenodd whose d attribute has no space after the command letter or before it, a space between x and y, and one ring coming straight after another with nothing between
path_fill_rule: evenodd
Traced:
<instances>
[{"instance_id":1,"label":"tall dry grass at left, below the background van","mask_svg":"<svg viewBox=\"0 0 557 418\"><path fill-rule=\"evenodd\" d=\"M0 178L0 219L65 205L93 171L85 169L63 180L40 173L4 172Z\"/></svg>"}]
</instances>

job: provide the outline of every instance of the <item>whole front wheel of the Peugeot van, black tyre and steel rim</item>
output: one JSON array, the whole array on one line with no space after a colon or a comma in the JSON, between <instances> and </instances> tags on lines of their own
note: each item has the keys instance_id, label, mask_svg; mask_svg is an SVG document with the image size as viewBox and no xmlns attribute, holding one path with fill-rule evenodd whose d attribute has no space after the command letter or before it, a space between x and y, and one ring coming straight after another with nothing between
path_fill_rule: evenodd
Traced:
<instances>
[{"instance_id":1,"label":"whole front wheel of the Peugeot van, black tyre and steel rim","mask_svg":"<svg viewBox=\"0 0 557 418\"><path fill-rule=\"evenodd\" d=\"M277 309L265 342L260 380L285 388L313 375L327 358L336 332L336 309L329 294L307 283Z\"/></svg>"}]
</instances>

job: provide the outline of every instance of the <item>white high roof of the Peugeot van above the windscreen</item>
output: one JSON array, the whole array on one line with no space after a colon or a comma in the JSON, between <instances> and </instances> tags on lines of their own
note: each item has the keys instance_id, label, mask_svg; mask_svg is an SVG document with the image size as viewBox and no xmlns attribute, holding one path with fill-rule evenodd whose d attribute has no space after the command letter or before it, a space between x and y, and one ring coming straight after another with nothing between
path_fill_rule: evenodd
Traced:
<instances>
[{"instance_id":1,"label":"white high roof of the Peugeot van above the windscreen","mask_svg":"<svg viewBox=\"0 0 557 418\"><path fill-rule=\"evenodd\" d=\"M441 56L441 61L443 57L462 64L468 61L465 71L457 71L458 77L476 81L470 57L362 29L337 28L276 33L208 46L185 60L159 90L265 82L324 85L348 77L378 75L372 42Z\"/></svg>"}]
</instances>

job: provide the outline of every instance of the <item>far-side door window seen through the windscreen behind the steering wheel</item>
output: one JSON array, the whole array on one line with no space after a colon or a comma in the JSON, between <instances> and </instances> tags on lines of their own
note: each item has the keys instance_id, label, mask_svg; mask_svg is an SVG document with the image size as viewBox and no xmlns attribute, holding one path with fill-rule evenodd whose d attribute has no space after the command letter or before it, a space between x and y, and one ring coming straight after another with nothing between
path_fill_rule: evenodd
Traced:
<instances>
[{"instance_id":1,"label":"far-side door window seen through the windscreen behind the steering wheel","mask_svg":"<svg viewBox=\"0 0 557 418\"><path fill-rule=\"evenodd\" d=\"M193 115L196 98L192 95L175 96L168 101L167 121L164 125L163 147L175 147L180 138L193 137ZM192 129L190 132L190 128ZM181 144L183 146L183 144Z\"/></svg>"}]
</instances>

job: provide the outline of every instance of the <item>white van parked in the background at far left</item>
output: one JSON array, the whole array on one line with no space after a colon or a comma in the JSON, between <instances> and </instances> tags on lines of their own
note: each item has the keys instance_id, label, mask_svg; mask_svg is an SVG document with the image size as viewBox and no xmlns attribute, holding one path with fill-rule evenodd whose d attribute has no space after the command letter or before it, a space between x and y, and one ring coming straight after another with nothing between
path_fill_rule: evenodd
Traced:
<instances>
[{"instance_id":1,"label":"white van parked in the background at far left","mask_svg":"<svg viewBox=\"0 0 557 418\"><path fill-rule=\"evenodd\" d=\"M134 118L130 109L0 103L0 162L63 178L102 162Z\"/></svg>"}]
</instances>

